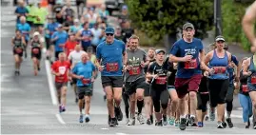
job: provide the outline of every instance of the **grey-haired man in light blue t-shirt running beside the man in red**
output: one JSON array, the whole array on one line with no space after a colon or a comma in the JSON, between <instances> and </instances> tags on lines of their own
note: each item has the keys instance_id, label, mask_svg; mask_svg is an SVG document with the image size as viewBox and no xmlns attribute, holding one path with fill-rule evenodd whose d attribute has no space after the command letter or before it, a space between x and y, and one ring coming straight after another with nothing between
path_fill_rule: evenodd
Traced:
<instances>
[{"instance_id":1,"label":"grey-haired man in light blue t-shirt running beside the man in red","mask_svg":"<svg viewBox=\"0 0 256 135\"><path fill-rule=\"evenodd\" d=\"M83 100L85 100L86 105L86 123L89 123L89 106L90 106L90 98L92 96L92 87L91 83L94 82L94 78L96 76L96 68L89 61L89 56L87 53L82 54L81 62L77 63L74 68L72 68L72 77L77 79L77 94L78 94L78 106L80 110L79 122L83 123Z\"/></svg>"}]
</instances>

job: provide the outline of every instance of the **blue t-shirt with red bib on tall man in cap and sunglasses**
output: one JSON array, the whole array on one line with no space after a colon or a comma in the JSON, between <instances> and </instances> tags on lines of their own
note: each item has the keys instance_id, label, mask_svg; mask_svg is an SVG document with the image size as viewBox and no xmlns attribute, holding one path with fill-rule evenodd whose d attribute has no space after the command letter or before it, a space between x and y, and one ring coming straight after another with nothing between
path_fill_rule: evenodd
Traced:
<instances>
[{"instance_id":1,"label":"blue t-shirt with red bib on tall man in cap and sunglasses","mask_svg":"<svg viewBox=\"0 0 256 135\"><path fill-rule=\"evenodd\" d=\"M125 43L116 39L114 39L111 45L108 45L106 42L102 42L98 45L96 57L97 59L101 59L101 65L105 66L101 74L102 76L122 76L123 53L125 53L125 51ZM117 70L113 68L117 68Z\"/></svg>"}]
</instances>

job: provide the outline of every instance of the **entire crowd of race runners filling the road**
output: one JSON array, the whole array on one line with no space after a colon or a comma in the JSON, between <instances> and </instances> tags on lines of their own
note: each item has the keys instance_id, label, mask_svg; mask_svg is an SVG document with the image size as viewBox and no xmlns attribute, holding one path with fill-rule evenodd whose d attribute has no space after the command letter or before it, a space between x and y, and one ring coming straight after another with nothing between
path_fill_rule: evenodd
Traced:
<instances>
[{"instance_id":1,"label":"entire crowd of race runners filling the road","mask_svg":"<svg viewBox=\"0 0 256 135\"><path fill-rule=\"evenodd\" d=\"M190 23L183 26L182 39L168 52L156 48L146 52L130 28L127 6L116 20L117 26L109 26L104 5L86 7L77 1L77 7L75 13L69 1L49 0L48 7L33 2L25 6L20 1L15 10L14 73L20 75L23 57L30 52L32 73L37 76L40 60L46 56L55 76L60 113L66 111L70 83L80 111L79 123L89 123L93 90L101 90L93 89L93 82L100 74L109 126L123 120L123 100L127 125L135 125L137 118L139 125L175 125L185 130L187 126L203 127L208 119L215 121L216 115L217 128L233 127L233 94L238 88L245 127L256 129L255 55L239 61L221 35L206 54Z\"/></svg>"}]
</instances>

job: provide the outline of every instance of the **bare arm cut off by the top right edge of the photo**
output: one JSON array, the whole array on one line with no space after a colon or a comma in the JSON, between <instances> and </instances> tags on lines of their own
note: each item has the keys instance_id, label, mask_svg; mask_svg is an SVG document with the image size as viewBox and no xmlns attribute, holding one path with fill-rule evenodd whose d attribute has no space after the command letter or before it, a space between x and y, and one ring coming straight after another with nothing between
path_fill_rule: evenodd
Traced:
<instances>
[{"instance_id":1,"label":"bare arm cut off by the top right edge of the photo","mask_svg":"<svg viewBox=\"0 0 256 135\"><path fill-rule=\"evenodd\" d=\"M254 34L254 22L256 20L256 1L246 10L246 14L243 18L243 29L246 33L246 37L253 43L255 40Z\"/></svg>"}]
</instances>

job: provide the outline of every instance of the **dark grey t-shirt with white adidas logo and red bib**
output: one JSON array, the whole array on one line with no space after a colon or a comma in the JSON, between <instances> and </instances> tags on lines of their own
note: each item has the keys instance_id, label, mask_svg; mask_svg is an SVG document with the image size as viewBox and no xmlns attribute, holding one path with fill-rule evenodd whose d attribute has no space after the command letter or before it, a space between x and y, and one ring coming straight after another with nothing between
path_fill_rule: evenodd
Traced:
<instances>
[{"instance_id":1,"label":"dark grey t-shirt with white adidas logo and red bib","mask_svg":"<svg viewBox=\"0 0 256 135\"><path fill-rule=\"evenodd\" d=\"M125 73L126 82L134 82L137 79L145 78L144 68L141 67L142 62L147 61L145 50L137 48L135 51L127 49L128 53L128 66L132 68Z\"/></svg>"}]
</instances>

